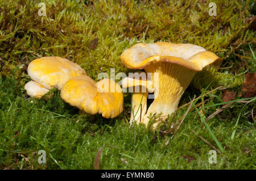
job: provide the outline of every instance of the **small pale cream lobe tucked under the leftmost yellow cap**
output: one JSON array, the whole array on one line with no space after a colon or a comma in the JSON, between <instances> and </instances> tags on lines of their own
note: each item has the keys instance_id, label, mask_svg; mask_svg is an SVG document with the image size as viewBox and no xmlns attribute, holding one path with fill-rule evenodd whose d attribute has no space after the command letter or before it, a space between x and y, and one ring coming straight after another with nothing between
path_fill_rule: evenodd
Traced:
<instances>
[{"instance_id":1,"label":"small pale cream lobe tucked under the leftmost yellow cap","mask_svg":"<svg viewBox=\"0 0 256 181\"><path fill-rule=\"evenodd\" d=\"M27 95L38 99L42 98L49 91L35 81L27 82L24 89L27 91Z\"/></svg>"}]
</instances>

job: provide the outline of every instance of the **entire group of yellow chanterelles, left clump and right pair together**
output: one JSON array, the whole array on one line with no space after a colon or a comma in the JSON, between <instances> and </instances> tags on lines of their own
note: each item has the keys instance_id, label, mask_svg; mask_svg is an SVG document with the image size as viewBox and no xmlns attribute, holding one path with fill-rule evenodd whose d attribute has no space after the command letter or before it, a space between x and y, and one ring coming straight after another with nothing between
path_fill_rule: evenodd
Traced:
<instances>
[{"instance_id":1,"label":"entire group of yellow chanterelles, left clump and right pair together","mask_svg":"<svg viewBox=\"0 0 256 181\"><path fill-rule=\"evenodd\" d=\"M180 98L197 71L209 64L220 65L221 58L192 44L139 43L126 49L120 57L130 69L144 69L150 76L126 77L123 88L135 89L132 97L130 122L148 124L151 115L161 114L153 124L174 113ZM82 112L114 118L123 111L121 87L105 78L94 82L85 70L61 57L43 57L28 65L32 81L25 85L27 94L42 98L50 89L59 89L61 99ZM154 101L147 110L147 97L154 92Z\"/></svg>"}]
</instances>

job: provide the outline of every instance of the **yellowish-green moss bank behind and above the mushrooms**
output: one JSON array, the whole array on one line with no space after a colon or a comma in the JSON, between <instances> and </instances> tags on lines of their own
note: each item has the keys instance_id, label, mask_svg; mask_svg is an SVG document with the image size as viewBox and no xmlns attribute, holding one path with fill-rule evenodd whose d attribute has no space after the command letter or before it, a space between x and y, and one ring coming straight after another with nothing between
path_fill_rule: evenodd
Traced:
<instances>
[{"instance_id":1,"label":"yellowish-green moss bank behind and above the mushrooms","mask_svg":"<svg viewBox=\"0 0 256 181\"><path fill-rule=\"evenodd\" d=\"M109 73L109 68L127 71L119 60L123 50L138 42L192 43L222 58L255 43L255 34L244 23L252 5L240 1L216 1L217 16L209 16L201 1L45 1L47 16L39 16L39 1L1 1L1 74L41 56L61 56L77 62L96 79L98 69L89 53ZM230 16L232 14L232 16ZM254 48L254 47L253 47ZM225 58L225 62L232 62Z\"/></svg>"}]
</instances>

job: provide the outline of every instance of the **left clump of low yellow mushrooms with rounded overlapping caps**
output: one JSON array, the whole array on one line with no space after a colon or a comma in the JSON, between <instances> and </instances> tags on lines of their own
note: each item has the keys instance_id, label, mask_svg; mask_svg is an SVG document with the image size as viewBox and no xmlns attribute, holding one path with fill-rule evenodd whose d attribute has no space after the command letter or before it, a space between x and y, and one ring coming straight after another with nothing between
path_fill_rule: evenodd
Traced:
<instances>
[{"instance_id":1,"label":"left clump of low yellow mushrooms with rounded overlapping caps","mask_svg":"<svg viewBox=\"0 0 256 181\"><path fill-rule=\"evenodd\" d=\"M42 57L28 65L32 81L26 83L27 95L42 98L50 89L59 89L61 99L82 112L113 118L123 111L121 87L111 79L94 82L85 70L61 57Z\"/></svg>"}]
</instances>

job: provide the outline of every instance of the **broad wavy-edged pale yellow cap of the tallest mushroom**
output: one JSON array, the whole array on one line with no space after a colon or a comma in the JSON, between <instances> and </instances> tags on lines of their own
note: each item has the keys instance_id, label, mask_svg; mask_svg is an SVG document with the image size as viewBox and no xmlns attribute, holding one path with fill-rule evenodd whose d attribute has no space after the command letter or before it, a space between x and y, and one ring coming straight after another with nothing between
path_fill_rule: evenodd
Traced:
<instances>
[{"instance_id":1,"label":"broad wavy-edged pale yellow cap of the tallest mushroom","mask_svg":"<svg viewBox=\"0 0 256 181\"><path fill-rule=\"evenodd\" d=\"M120 59L130 69L143 69L154 61L170 62L201 71L215 61L217 65L221 63L220 57L198 45L167 42L136 44L126 49Z\"/></svg>"}]
</instances>

